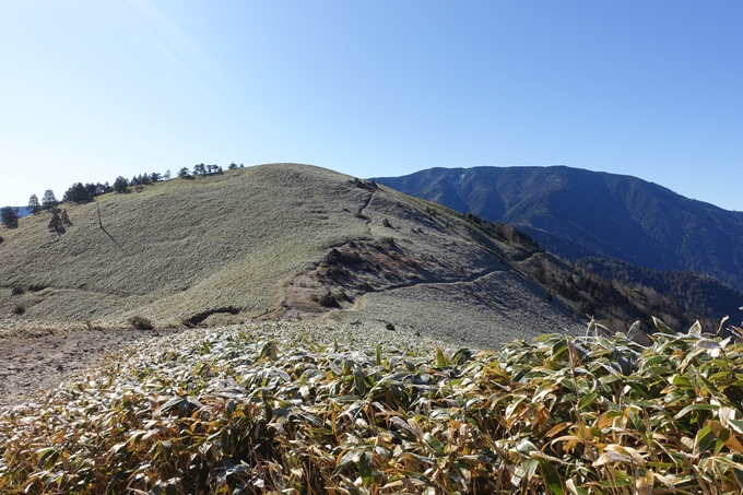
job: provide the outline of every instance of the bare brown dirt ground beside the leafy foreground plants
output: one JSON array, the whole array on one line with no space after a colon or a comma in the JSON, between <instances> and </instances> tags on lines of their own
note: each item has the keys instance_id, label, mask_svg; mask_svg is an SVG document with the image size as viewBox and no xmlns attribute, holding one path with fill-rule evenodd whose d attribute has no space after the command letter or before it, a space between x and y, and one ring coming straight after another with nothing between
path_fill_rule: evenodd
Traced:
<instances>
[{"instance_id":1,"label":"bare brown dirt ground beside the leafy foreground plants","mask_svg":"<svg viewBox=\"0 0 743 495\"><path fill-rule=\"evenodd\" d=\"M92 330L0 339L0 410L34 400L140 339L179 330Z\"/></svg>"}]
</instances>

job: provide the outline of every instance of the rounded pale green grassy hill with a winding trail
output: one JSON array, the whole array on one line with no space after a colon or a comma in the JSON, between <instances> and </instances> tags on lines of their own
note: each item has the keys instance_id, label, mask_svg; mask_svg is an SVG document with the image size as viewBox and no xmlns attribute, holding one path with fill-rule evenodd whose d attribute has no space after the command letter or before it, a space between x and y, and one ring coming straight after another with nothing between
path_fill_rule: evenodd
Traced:
<instances>
[{"instance_id":1,"label":"rounded pale green grassy hill with a winding trail","mask_svg":"<svg viewBox=\"0 0 743 495\"><path fill-rule=\"evenodd\" d=\"M581 325L512 267L523 248L318 167L228 170L62 208L72 225L61 235L48 231L48 212L2 232L5 327L331 315L488 346Z\"/></svg>"}]
</instances>

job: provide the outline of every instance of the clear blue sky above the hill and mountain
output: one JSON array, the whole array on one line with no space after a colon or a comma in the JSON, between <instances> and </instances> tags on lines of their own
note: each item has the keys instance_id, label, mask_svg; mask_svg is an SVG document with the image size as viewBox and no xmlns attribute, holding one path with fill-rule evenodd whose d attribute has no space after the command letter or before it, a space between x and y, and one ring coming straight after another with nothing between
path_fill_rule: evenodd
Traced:
<instances>
[{"instance_id":1,"label":"clear blue sky above the hill and mountain","mask_svg":"<svg viewBox=\"0 0 743 495\"><path fill-rule=\"evenodd\" d=\"M743 2L0 0L0 205L231 162L559 164L743 211Z\"/></svg>"}]
</instances>

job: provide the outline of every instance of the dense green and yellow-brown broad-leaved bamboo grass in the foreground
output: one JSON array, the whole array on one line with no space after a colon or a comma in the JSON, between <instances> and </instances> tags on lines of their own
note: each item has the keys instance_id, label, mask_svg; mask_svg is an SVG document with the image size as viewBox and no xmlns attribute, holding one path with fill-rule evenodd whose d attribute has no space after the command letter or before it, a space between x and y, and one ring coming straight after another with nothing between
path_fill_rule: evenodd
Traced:
<instances>
[{"instance_id":1,"label":"dense green and yellow-brown broad-leaved bamboo grass in the foreground","mask_svg":"<svg viewBox=\"0 0 743 495\"><path fill-rule=\"evenodd\" d=\"M287 322L149 341L0 416L0 491L740 493L743 344L657 325L479 354Z\"/></svg>"}]
</instances>

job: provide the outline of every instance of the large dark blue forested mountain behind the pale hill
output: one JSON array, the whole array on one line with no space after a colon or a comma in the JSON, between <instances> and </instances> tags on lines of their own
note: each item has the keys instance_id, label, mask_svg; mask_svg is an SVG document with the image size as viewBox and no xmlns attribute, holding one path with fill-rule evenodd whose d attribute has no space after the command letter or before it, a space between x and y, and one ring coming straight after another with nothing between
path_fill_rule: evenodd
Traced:
<instances>
[{"instance_id":1,"label":"large dark blue forested mountain behind the pale hill","mask_svg":"<svg viewBox=\"0 0 743 495\"><path fill-rule=\"evenodd\" d=\"M636 177L552 166L432 168L374 180L514 225L569 260L691 270L743 291L743 212Z\"/></svg>"}]
</instances>

